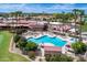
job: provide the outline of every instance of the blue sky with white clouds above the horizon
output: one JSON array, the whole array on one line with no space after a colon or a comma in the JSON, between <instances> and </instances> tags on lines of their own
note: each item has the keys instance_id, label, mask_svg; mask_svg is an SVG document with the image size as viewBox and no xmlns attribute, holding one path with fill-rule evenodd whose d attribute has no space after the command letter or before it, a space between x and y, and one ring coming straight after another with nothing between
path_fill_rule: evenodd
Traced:
<instances>
[{"instance_id":1,"label":"blue sky with white clouds above the horizon","mask_svg":"<svg viewBox=\"0 0 87 65\"><path fill-rule=\"evenodd\" d=\"M0 12L57 13L72 12L73 9L81 9L87 13L87 3L0 3Z\"/></svg>"}]
</instances>

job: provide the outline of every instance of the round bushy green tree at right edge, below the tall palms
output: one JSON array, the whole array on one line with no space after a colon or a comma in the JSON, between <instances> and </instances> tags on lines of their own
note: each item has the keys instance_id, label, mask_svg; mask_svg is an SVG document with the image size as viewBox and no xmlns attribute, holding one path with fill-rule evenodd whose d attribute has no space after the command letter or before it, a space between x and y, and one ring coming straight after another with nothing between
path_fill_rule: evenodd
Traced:
<instances>
[{"instance_id":1,"label":"round bushy green tree at right edge, below the tall palms","mask_svg":"<svg viewBox=\"0 0 87 65\"><path fill-rule=\"evenodd\" d=\"M83 54L86 52L87 45L85 43L76 42L72 44L72 48L76 54Z\"/></svg>"}]
</instances>

